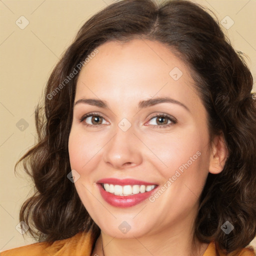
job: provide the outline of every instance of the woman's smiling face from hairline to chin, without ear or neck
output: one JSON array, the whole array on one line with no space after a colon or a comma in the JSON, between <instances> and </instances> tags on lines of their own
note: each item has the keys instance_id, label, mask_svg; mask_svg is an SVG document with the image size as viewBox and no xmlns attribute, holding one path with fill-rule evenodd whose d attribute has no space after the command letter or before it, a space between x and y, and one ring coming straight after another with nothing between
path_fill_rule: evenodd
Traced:
<instances>
[{"instance_id":1,"label":"woman's smiling face from hairline to chin, without ear or neck","mask_svg":"<svg viewBox=\"0 0 256 256\"><path fill-rule=\"evenodd\" d=\"M117 238L190 228L210 147L188 66L158 41L97 49L78 76L68 143L83 205Z\"/></svg>"}]
</instances>

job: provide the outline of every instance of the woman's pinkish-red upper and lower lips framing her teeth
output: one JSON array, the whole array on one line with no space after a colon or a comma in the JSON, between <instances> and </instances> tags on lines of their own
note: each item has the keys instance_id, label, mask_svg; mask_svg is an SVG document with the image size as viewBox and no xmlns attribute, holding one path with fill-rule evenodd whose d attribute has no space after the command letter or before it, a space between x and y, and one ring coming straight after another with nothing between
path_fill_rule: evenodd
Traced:
<instances>
[{"instance_id":1,"label":"woman's pinkish-red upper and lower lips framing her teeth","mask_svg":"<svg viewBox=\"0 0 256 256\"><path fill-rule=\"evenodd\" d=\"M117 187L120 186L140 186L140 187L147 187L147 190L143 190L144 192L136 191L136 194L126 194L126 195L118 195L115 193L110 193L104 189L105 184L111 184ZM117 179L117 178L103 178L97 181L97 186L102 198L112 206L116 207L131 207L134 206L146 198L150 196L151 193L154 192L157 184L151 182L145 182L142 180L137 179ZM126 190L125 190L126 191ZM134 190L133 190L134 191ZM122 194L122 193L121 193Z\"/></svg>"}]
</instances>

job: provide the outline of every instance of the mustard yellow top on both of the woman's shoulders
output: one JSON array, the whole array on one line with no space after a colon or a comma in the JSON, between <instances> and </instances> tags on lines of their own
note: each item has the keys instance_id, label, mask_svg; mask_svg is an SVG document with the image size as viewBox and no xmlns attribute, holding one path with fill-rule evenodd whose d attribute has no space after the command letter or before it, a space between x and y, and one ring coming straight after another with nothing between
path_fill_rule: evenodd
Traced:
<instances>
[{"instance_id":1,"label":"mustard yellow top on both of the woman's shoulders","mask_svg":"<svg viewBox=\"0 0 256 256\"><path fill-rule=\"evenodd\" d=\"M0 252L0 256L90 256L92 252L91 232L79 232L76 235L56 240L52 244L47 242L36 242L29 245L9 249ZM219 256L228 255L220 252ZM237 256L255 256L252 247L244 248ZM214 242L211 241L203 256L217 256Z\"/></svg>"}]
</instances>

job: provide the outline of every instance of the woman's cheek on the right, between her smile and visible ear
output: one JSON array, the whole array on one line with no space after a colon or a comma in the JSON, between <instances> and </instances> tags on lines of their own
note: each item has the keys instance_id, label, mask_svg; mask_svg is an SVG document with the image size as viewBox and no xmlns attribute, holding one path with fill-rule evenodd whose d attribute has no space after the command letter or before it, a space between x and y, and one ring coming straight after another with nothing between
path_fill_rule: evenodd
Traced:
<instances>
[{"instance_id":1,"label":"woman's cheek on the right, between her smile and visible ear","mask_svg":"<svg viewBox=\"0 0 256 256\"><path fill-rule=\"evenodd\" d=\"M195 203L208 174L206 129L191 126L185 132L161 135L151 140L152 137L148 143L151 143L152 151L162 162L158 165L158 172L164 177L165 186L171 182L166 195L173 201L180 200L187 205ZM168 184L167 180L170 181Z\"/></svg>"}]
</instances>

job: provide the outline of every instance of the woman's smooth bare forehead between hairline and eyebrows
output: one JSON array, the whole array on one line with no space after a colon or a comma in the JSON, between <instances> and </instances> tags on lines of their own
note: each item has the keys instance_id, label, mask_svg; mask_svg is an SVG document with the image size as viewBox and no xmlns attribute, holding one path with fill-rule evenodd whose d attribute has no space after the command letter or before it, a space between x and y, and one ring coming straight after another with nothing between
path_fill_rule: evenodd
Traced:
<instances>
[{"instance_id":1,"label":"woman's smooth bare forehead between hairline and eyebrows","mask_svg":"<svg viewBox=\"0 0 256 256\"><path fill-rule=\"evenodd\" d=\"M164 44L109 41L97 50L79 73L75 100L93 96L123 105L157 95L198 101L188 66Z\"/></svg>"}]
</instances>

